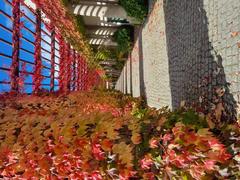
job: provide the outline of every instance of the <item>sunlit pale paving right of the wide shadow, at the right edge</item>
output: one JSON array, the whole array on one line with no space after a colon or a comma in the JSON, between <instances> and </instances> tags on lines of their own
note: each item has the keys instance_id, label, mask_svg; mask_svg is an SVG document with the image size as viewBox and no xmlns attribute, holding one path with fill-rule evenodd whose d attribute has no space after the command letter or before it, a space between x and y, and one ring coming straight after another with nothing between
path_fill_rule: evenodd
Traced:
<instances>
[{"instance_id":1,"label":"sunlit pale paving right of the wide shadow, at the right edge","mask_svg":"<svg viewBox=\"0 0 240 180\"><path fill-rule=\"evenodd\" d=\"M205 0L209 41L222 57L229 90L240 103L240 1Z\"/></svg>"}]
</instances>

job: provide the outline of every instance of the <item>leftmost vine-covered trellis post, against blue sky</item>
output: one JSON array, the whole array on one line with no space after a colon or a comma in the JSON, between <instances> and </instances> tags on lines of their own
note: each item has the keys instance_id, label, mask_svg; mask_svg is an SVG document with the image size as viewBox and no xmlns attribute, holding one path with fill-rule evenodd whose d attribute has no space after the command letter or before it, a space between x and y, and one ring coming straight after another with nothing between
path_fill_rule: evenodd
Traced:
<instances>
[{"instance_id":1,"label":"leftmost vine-covered trellis post, against blue sky","mask_svg":"<svg viewBox=\"0 0 240 180\"><path fill-rule=\"evenodd\" d=\"M19 51L20 51L20 0L13 0L13 52L10 69L11 91L18 92Z\"/></svg>"}]
</instances>

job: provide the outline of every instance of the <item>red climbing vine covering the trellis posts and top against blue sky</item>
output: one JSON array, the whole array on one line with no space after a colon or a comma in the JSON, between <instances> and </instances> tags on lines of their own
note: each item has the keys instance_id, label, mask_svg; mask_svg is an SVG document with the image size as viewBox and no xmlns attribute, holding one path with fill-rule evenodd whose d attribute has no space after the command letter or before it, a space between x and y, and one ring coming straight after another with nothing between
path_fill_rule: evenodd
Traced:
<instances>
[{"instance_id":1,"label":"red climbing vine covering the trellis posts and top against blue sky","mask_svg":"<svg viewBox=\"0 0 240 180\"><path fill-rule=\"evenodd\" d=\"M81 80L82 90L89 90L99 83L99 75L94 70L90 69L86 63L89 55L87 44L83 41L83 38L77 31L73 18L68 14L67 10L58 0L33 0L36 3L37 9L33 10L28 8L36 16L36 32L35 32L35 46L34 46L34 72L33 72L33 93L39 93L41 90L41 84L43 80L42 75L42 60L41 60L41 13L44 12L47 18L50 19L50 24L45 23L45 26L52 33L51 42L51 91L54 90L54 59L55 59L55 36L60 36L60 72L59 72L59 86L61 92L68 92L71 89L73 73L73 56L72 49L69 43L74 45L74 42L80 44L81 48L78 50L81 52L81 61L83 66L78 67L77 74ZM10 68L11 77L11 89L12 91L19 92L20 87L24 88L24 81L21 81L19 75L19 51L20 51L20 37L21 27L23 23L20 22L20 17L23 13L20 11L20 4L26 6L22 0L13 0L13 61ZM75 50L74 50L75 51ZM78 89L78 90L80 90Z\"/></svg>"}]
</instances>

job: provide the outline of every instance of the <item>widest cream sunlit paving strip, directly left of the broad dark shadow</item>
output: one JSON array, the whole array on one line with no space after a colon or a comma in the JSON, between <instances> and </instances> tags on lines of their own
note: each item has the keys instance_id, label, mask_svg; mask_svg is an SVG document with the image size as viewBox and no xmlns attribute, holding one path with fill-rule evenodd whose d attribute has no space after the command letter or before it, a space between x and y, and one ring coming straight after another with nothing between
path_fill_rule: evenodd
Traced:
<instances>
[{"instance_id":1,"label":"widest cream sunlit paving strip, directly left of the broad dark shadow","mask_svg":"<svg viewBox=\"0 0 240 180\"><path fill-rule=\"evenodd\" d=\"M172 104L163 1L152 4L152 11L140 34L142 40L143 93L149 106Z\"/></svg>"}]
</instances>

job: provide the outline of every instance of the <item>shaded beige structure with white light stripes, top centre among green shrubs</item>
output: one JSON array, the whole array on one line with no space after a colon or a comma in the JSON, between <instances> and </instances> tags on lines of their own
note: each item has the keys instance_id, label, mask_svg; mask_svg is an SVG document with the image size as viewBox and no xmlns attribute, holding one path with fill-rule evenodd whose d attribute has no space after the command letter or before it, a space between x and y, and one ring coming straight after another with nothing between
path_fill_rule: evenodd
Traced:
<instances>
[{"instance_id":1,"label":"shaded beige structure with white light stripes, top centre among green shrubs","mask_svg":"<svg viewBox=\"0 0 240 180\"><path fill-rule=\"evenodd\" d=\"M122 25L131 25L134 22L119 5L118 0L83 0L78 3L73 1L69 8L75 15L83 17L88 42L95 47L116 48L117 43L112 40L114 33ZM107 74L119 76L120 72L111 69L111 65L103 66L107 69Z\"/></svg>"}]
</instances>

